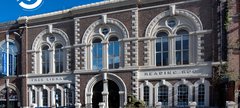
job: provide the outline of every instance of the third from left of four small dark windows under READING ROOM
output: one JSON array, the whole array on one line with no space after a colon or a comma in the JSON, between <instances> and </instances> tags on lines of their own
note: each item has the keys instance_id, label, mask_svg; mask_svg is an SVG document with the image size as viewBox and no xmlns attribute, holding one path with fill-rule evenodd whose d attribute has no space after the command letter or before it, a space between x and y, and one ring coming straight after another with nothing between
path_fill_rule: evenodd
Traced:
<instances>
[{"instance_id":1,"label":"third from left of four small dark windows under READING ROOM","mask_svg":"<svg viewBox=\"0 0 240 108\"><path fill-rule=\"evenodd\" d=\"M178 106L187 106L188 105L188 86L187 85L179 85L178 86Z\"/></svg>"}]
</instances>

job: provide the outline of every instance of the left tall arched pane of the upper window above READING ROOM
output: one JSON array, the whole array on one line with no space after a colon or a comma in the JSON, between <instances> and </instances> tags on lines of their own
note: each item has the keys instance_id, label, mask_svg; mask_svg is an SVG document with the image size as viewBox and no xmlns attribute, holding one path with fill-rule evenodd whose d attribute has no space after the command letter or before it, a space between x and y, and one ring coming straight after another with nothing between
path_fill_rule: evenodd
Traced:
<instances>
[{"instance_id":1,"label":"left tall arched pane of the upper window above READING ROOM","mask_svg":"<svg viewBox=\"0 0 240 108\"><path fill-rule=\"evenodd\" d=\"M156 65L166 66L168 64L168 34L159 32L156 39Z\"/></svg>"}]
</instances>

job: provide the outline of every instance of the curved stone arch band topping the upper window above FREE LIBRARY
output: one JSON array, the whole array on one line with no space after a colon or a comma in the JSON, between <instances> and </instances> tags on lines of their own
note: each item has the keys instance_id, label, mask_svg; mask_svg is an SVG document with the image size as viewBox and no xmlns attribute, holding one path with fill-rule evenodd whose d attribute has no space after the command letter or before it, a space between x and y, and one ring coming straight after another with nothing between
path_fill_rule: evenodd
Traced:
<instances>
[{"instance_id":1,"label":"curved stone arch band topping the upper window above FREE LIBRARY","mask_svg":"<svg viewBox=\"0 0 240 108\"><path fill-rule=\"evenodd\" d=\"M68 35L61 29L58 28L53 28L52 29L52 33L49 33L47 29L43 30L42 32L40 32L37 37L35 38L35 40L33 41L32 44L32 50L38 50L38 48L41 46L42 42L46 42L47 40L43 41L43 38L45 35L47 34L57 34L58 36L60 36L60 38L62 38L62 44L63 46L69 46L70 45L70 40L68 38ZM57 41L57 43L59 43L59 41Z\"/></svg>"}]
</instances>

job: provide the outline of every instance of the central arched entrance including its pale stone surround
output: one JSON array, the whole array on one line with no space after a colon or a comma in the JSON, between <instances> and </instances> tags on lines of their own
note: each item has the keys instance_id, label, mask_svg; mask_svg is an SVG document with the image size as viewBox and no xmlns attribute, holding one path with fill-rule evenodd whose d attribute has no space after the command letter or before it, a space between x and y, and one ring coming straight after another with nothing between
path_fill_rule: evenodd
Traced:
<instances>
[{"instance_id":1,"label":"central arched entrance including its pale stone surround","mask_svg":"<svg viewBox=\"0 0 240 108\"><path fill-rule=\"evenodd\" d=\"M114 105L117 105L121 108L124 107L124 105L127 103L127 87L124 83L124 81L117 75L113 73L107 73L107 80L109 82L109 87L108 87L108 100L114 100L112 97L118 97L118 102L114 102ZM98 83L98 84L97 84ZM97 91L96 89L98 87L102 87L101 90L101 96L102 96L102 91L103 91L103 74L98 74L93 76L87 83L87 86L85 88L85 106L86 107L93 107L93 104L96 104L94 106L97 106L99 103L93 102L93 98L95 99L94 91ZM95 89L94 89L95 87ZM98 91L100 91L98 90ZM112 94L117 94L117 95L112 95ZM109 96L110 95L110 96ZM110 99L109 99L110 98ZM102 99L102 97L101 97ZM102 100L99 100L102 101ZM108 102L109 103L109 102ZM119 104L119 105L118 105ZM113 105L111 105L113 106ZM115 108L115 107L113 107Z\"/></svg>"}]
</instances>

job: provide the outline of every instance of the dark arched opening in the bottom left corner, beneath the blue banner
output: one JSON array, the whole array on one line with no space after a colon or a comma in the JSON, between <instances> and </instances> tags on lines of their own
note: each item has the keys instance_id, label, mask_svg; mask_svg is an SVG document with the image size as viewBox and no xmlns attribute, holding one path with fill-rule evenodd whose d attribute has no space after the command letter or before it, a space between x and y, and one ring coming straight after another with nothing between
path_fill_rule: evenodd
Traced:
<instances>
[{"instance_id":1,"label":"dark arched opening in the bottom left corner, beneath the blue banner","mask_svg":"<svg viewBox=\"0 0 240 108\"><path fill-rule=\"evenodd\" d=\"M6 108L6 94L7 89L4 88L0 91L0 108ZM8 108L18 108L18 96L15 90L12 88L8 88L8 100L9 106Z\"/></svg>"}]
</instances>

